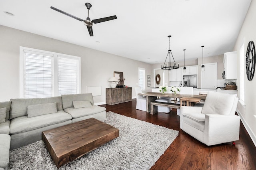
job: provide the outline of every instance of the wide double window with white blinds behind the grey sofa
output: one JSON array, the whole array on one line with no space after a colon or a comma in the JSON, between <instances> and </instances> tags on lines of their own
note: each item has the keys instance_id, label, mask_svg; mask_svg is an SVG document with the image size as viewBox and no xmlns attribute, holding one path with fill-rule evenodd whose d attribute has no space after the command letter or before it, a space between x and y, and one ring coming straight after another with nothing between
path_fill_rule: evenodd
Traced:
<instances>
[{"instance_id":1,"label":"wide double window with white blinds behind the grey sofa","mask_svg":"<svg viewBox=\"0 0 256 170\"><path fill-rule=\"evenodd\" d=\"M20 47L20 97L80 93L80 57Z\"/></svg>"}]
</instances>

